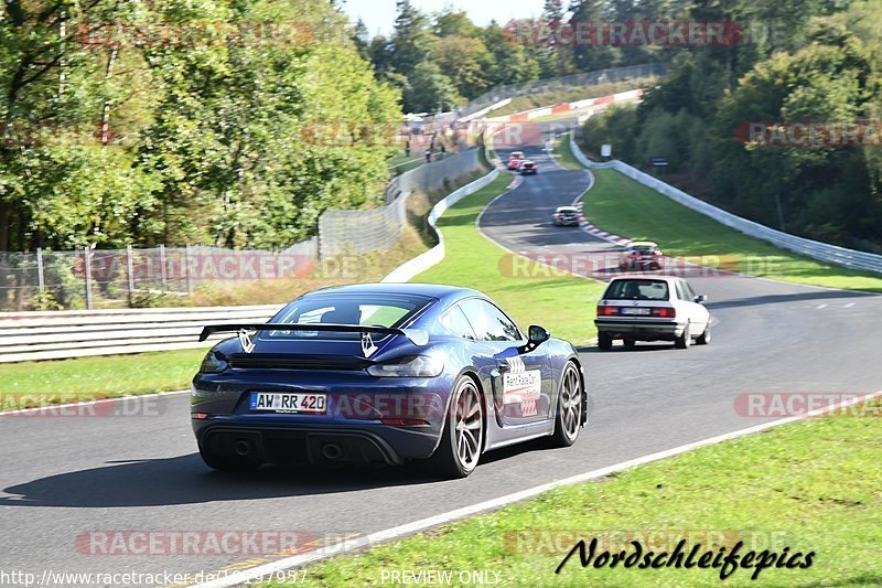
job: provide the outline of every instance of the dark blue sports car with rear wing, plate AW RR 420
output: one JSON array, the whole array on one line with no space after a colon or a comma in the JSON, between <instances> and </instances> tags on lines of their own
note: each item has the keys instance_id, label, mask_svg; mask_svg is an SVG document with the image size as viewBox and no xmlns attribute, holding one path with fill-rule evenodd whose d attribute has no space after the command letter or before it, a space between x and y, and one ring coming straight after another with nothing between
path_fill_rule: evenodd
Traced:
<instances>
[{"instance_id":1,"label":"dark blue sports car with rear wing, plate AW RR 420","mask_svg":"<svg viewBox=\"0 0 882 588\"><path fill-rule=\"evenodd\" d=\"M484 451L576 442L588 396L573 346L528 335L475 290L358 285L301 296L267 324L206 327L193 378L205 463L404 463L464 478Z\"/></svg>"}]
</instances>

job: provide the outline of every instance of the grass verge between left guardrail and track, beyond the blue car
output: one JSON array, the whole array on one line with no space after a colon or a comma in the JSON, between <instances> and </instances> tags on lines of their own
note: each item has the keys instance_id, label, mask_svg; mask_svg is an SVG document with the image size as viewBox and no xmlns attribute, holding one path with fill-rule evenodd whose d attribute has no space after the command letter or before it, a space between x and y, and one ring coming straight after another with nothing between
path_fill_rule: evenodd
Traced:
<instances>
[{"instance_id":1,"label":"grass verge between left guardrail and track, beyond the blue car","mask_svg":"<svg viewBox=\"0 0 882 588\"><path fill-rule=\"evenodd\" d=\"M537 264L520 272L524 277L512 277L507 269L512 254L475 229L477 215L510 181L512 175L503 173L444 213L438 223L444 235L444 260L413 281L475 288L496 300L521 329L541 324L573 344L588 343L596 335L594 302L603 285L566 274L550 275L546 266Z\"/></svg>"}]
</instances>

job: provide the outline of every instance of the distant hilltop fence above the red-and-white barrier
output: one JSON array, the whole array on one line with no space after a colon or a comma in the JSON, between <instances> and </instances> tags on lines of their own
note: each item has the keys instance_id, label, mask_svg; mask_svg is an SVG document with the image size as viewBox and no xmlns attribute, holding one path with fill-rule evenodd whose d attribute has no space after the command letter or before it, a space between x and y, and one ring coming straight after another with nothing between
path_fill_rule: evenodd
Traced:
<instances>
[{"instance_id":1,"label":"distant hilltop fence above the red-and-white barrier","mask_svg":"<svg viewBox=\"0 0 882 588\"><path fill-rule=\"evenodd\" d=\"M484 108L492 106L501 100L517 98L518 96L529 96L531 94L545 94L549 92L580 88L584 86L599 86L601 84L612 84L625 82L638 77L664 75L668 71L665 63L644 63L641 65L628 65L626 67L614 67L611 70L600 70L598 72L587 72L561 77L549 77L523 84L509 84L498 86L478 96L467 104L456 108L458 118L471 116L480 113Z\"/></svg>"}]
</instances>

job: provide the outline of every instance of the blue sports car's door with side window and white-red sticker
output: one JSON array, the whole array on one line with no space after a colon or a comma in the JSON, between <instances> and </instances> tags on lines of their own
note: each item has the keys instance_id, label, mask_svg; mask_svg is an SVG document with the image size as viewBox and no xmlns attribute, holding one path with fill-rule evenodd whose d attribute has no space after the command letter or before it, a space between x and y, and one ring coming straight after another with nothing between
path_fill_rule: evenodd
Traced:
<instances>
[{"instance_id":1,"label":"blue sports car's door with side window and white-red sticker","mask_svg":"<svg viewBox=\"0 0 882 588\"><path fill-rule=\"evenodd\" d=\"M488 300L470 298L461 302L460 308L488 350L494 413L499 425L548 419L555 386L541 345L520 353L519 348L527 342L524 333Z\"/></svg>"}]
</instances>

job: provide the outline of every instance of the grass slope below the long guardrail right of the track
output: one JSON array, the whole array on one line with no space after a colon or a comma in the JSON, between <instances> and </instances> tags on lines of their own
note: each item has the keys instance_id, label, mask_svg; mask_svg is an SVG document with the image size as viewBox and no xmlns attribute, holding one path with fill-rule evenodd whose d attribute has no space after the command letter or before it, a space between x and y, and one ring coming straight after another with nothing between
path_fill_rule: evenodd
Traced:
<instances>
[{"instance_id":1,"label":"grass slope below the long guardrail right of the track","mask_svg":"<svg viewBox=\"0 0 882 588\"><path fill-rule=\"evenodd\" d=\"M567 136L556 156L570 169L582 169ZM668 255L698 257L717 265L772 279L882 292L882 276L825 264L781 249L689 210L615 170L593 170L594 186L583 197L585 217L598 227L631 239L658 243Z\"/></svg>"}]
</instances>

